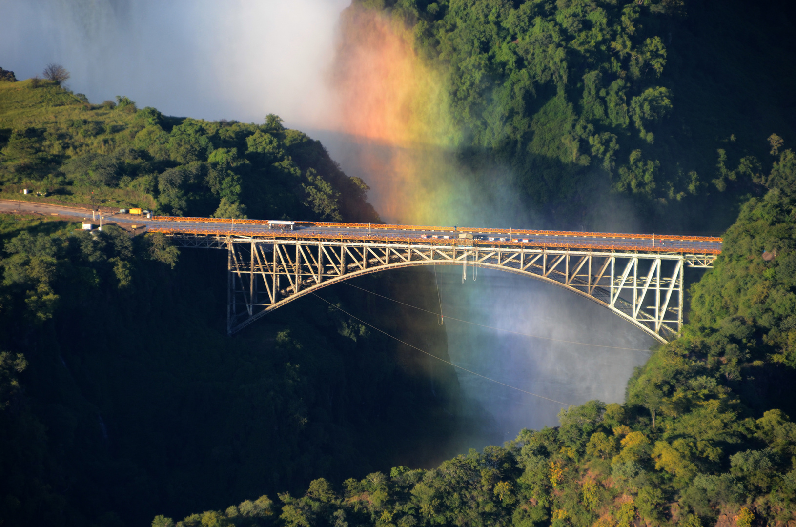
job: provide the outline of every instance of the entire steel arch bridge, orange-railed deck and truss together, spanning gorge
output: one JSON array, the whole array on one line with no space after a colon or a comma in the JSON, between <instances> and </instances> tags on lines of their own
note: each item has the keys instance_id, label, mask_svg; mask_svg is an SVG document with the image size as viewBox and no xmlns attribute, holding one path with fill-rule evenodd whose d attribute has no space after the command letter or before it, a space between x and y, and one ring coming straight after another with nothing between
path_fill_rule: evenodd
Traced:
<instances>
[{"instance_id":1,"label":"entire steel arch bridge, orange-railed deck and truss together, spanning gorge","mask_svg":"<svg viewBox=\"0 0 796 527\"><path fill-rule=\"evenodd\" d=\"M685 267L712 267L721 238L501 228L153 217L182 247L228 251L227 330L342 280L398 267L499 269L564 287L666 342L683 322Z\"/></svg>"}]
</instances>

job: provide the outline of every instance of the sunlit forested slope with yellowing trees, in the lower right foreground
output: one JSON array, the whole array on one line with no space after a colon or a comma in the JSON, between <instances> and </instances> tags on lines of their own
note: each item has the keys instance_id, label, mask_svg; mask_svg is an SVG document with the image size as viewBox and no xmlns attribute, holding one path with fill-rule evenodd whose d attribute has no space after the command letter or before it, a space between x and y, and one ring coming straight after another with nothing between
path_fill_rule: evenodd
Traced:
<instances>
[{"instance_id":1,"label":"sunlit forested slope with yellowing trees, in the lower right foreground","mask_svg":"<svg viewBox=\"0 0 796 527\"><path fill-rule=\"evenodd\" d=\"M765 182L694 285L683 336L637 370L625 404L570 407L559 427L433 470L319 478L279 505L262 496L177 525L791 525L796 154L779 154Z\"/></svg>"}]
</instances>

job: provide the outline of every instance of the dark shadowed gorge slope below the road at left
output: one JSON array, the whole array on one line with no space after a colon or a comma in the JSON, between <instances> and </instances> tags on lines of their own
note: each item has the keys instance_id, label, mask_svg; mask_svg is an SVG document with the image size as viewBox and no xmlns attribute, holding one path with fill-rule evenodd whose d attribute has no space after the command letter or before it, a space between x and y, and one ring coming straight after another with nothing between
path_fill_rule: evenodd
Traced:
<instances>
[{"instance_id":1,"label":"dark shadowed gorge slope below the road at left","mask_svg":"<svg viewBox=\"0 0 796 527\"><path fill-rule=\"evenodd\" d=\"M224 252L34 217L0 228L3 525L140 525L451 455L451 371L326 303L230 339ZM402 298L408 283L433 292L428 279L363 285ZM447 357L433 319L368 313L350 287L322 296Z\"/></svg>"}]
</instances>

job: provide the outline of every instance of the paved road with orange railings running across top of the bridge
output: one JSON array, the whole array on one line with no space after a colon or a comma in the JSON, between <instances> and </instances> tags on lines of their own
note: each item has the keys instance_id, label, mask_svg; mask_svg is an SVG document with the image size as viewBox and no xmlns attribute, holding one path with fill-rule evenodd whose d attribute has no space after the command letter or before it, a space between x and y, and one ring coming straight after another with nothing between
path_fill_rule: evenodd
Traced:
<instances>
[{"instance_id":1,"label":"paved road with orange railings running across top of the bridge","mask_svg":"<svg viewBox=\"0 0 796 527\"><path fill-rule=\"evenodd\" d=\"M41 213L76 220L91 218L92 211L60 205L0 200L0 212ZM217 220L215 218L154 217L145 219L129 214L103 213L111 223L146 224L150 232L182 232L240 236L275 236L279 238L326 238L343 240L417 241L446 244L462 233L471 234L474 243L543 247L638 250L645 252L687 252L718 254L721 239L704 236L669 236L661 234L622 234L608 232L538 231L499 228L456 228L423 225L345 224L296 222L295 230L275 230L267 221ZM96 221L98 223L99 220ZM447 240L447 241L446 241Z\"/></svg>"}]
</instances>

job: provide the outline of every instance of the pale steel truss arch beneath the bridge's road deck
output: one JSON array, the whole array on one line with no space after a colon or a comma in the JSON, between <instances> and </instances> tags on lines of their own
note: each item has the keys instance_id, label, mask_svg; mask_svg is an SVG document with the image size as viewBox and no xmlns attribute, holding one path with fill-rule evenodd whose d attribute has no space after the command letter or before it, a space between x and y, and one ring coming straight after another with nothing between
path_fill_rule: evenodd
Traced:
<instances>
[{"instance_id":1,"label":"pale steel truss arch beneath the bridge's road deck","mask_svg":"<svg viewBox=\"0 0 796 527\"><path fill-rule=\"evenodd\" d=\"M458 265L509 271L564 287L607 307L658 341L679 333L685 267L716 255L489 246L472 240L421 244L379 240L278 239L174 234L183 247L228 250L227 330L342 280L398 267ZM472 271L470 271L472 272Z\"/></svg>"}]
</instances>

